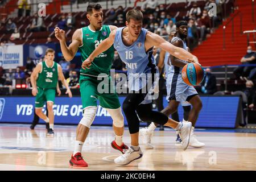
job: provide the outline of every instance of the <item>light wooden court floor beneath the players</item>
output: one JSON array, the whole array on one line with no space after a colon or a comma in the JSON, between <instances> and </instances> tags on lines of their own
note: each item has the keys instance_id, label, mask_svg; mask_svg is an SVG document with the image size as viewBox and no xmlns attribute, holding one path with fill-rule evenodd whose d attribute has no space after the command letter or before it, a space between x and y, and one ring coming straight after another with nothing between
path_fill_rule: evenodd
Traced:
<instances>
[{"instance_id":1,"label":"light wooden court floor beneath the players","mask_svg":"<svg viewBox=\"0 0 256 182\"><path fill-rule=\"evenodd\" d=\"M0 124L1 171L79 170L69 168L76 126L55 125L54 137L46 136L44 125L35 130L29 126ZM175 145L174 130L156 130L152 138L154 149L146 150L142 144L142 159L118 166L113 160L120 154L110 147L112 128L92 127L82 151L89 167L83 170L256 170L256 134L197 129L196 136L205 147L183 151ZM130 142L127 129L123 140Z\"/></svg>"}]
</instances>

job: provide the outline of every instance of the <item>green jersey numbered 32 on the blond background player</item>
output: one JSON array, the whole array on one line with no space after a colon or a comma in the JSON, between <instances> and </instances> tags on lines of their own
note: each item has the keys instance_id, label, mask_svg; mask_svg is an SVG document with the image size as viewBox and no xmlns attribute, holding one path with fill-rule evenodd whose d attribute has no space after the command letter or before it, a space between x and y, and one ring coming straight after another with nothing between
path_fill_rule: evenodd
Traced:
<instances>
[{"instance_id":1,"label":"green jersey numbered 32 on the blond background player","mask_svg":"<svg viewBox=\"0 0 256 182\"><path fill-rule=\"evenodd\" d=\"M42 62L42 72L38 74L36 86L43 89L56 88L58 82L58 64L53 62L52 67L48 67L46 61Z\"/></svg>"}]
</instances>

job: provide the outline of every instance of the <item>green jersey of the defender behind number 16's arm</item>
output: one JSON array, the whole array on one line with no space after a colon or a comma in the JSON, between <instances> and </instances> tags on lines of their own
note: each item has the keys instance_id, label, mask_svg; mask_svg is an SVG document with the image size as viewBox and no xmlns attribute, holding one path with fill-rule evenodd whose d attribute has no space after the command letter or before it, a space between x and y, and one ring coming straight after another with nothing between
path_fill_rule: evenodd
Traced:
<instances>
[{"instance_id":1,"label":"green jersey of the defender behind number 16's arm","mask_svg":"<svg viewBox=\"0 0 256 182\"><path fill-rule=\"evenodd\" d=\"M87 27L82 27L82 46L79 47L81 52L82 62L86 60L89 55L97 48L102 40L109 37L111 32L110 27L104 25L98 31L93 31ZM80 69L80 73L86 75L98 76L100 73L106 73L109 75L110 68L114 57L114 46L110 47L105 52L95 57L90 69Z\"/></svg>"}]
</instances>

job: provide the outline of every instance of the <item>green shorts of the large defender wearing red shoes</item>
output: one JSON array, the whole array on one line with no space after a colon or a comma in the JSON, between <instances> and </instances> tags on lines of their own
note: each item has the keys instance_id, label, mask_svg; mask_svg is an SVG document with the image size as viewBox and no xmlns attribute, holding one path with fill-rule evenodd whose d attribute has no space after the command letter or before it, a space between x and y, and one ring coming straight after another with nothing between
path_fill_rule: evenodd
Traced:
<instances>
[{"instance_id":1,"label":"green shorts of the large defender wearing red shoes","mask_svg":"<svg viewBox=\"0 0 256 182\"><path fill-rule=\"evenodd\" d=\"M97 106L97 100L100 106L107 109L118 109L120 107L119 98L115 93L112 78L106 77L106 82L97 80L90 76L80 75L80 93L82 99L82 108L88 106ZM102 92L102 91L105 92Z\"/></svg>"}]
</instances>

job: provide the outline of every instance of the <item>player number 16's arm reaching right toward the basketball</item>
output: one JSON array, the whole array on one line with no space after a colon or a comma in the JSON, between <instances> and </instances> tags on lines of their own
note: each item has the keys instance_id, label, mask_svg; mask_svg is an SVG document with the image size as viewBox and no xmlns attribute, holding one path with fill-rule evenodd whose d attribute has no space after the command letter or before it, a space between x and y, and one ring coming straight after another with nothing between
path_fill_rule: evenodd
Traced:
<instances>
[{"instance_id":1,"label":"player number 16's arm reaching right toward the basketball","mask_svg":"<svg viewBox=\"0 0 256 182\"><path fill-rule=\"evenodd\" d=\"M171 55L177 57L180 60L198 63L198 59L196 56L192 55L183 48L172 45L170 42L167 42L157 34L148 31L146 35L146 42L152 46L164 49L165 51L169 52Z\"/></svg>"}]
</instances>

